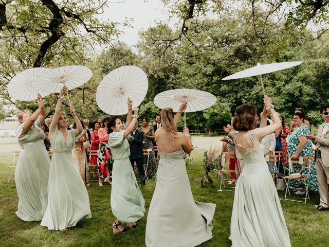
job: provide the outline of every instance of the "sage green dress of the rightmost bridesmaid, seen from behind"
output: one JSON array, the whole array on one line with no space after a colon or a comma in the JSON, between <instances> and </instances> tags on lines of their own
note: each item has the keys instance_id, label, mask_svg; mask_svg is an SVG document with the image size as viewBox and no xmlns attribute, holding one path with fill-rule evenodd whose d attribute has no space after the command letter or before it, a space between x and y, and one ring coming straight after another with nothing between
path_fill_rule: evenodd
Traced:
<instances>
[{"instance_id":1,"label":"sage green dress of the rightmost bridesmaid, seen from behind","mask_svg":"<svg viewBox=\"0 0 329 247\"><path fill-rule=\"evenodd\" d=\"M249 138L253 142L251 131ZM245 165L234 191L232 247L291 246L278 192L263 152L263 144L249 153L240 152Z\"/></svg>"}]
</instances>

